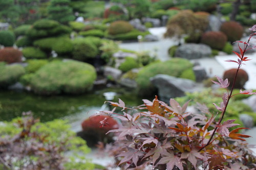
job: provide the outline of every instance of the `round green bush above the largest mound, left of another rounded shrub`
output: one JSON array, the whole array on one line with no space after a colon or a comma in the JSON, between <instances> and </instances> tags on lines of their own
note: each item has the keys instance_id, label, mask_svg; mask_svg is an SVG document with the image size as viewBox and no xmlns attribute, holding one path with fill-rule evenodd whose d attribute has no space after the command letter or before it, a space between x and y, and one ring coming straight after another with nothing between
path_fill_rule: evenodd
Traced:
<instances>
[{"instance_id":1,"label":"round green bush above the largest mound, left of another rounded shrub","mask_svg":"<svg viewBox=\"0 0 256 170\"><path fill-rule=\"evenodd\" d=\"M69 38L58 38L52 45L52 50L58 54L58 57L71 55L73 48L73 43Z\"/></svg>"}]
</instances>

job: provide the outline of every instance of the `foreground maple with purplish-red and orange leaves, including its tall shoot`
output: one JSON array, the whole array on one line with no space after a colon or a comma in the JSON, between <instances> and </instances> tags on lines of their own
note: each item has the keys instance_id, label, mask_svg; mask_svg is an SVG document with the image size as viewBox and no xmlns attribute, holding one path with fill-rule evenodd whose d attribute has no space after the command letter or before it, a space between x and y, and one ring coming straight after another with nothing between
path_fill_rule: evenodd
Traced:
<instances>
[{"instance_id":1,"label":"foreground maple with purplish-red and orange leaves, including its tall shoot","mask_svg":"<svg viewBox=\"0 0 256 170\"><path fill-rule=\"evenodd\" d=\"M150 166L151 169L167 170L256 169L256 157L244 139L250 136L239 133L246 128L235 128L239 126L234 124L235 119L224 121L233 96L256 94L252 90L240 90L233 94L240 67L250 60L245 57L245 52L255 47L249 41L256 35L256 25L250 30L253 33L247 42L238 41L240 54L234 52L238 60L227 60L238 64L234 81L229 82L228 79L223 80L217 76L217 81L212 81L226 91L222 102L214 103L218 111L211 113L205 105L198 104L199 111L192 113L186 111L189 101L181 106L170 99L168 105L158 100L157 96L152 102L143 100L144 104L136 108L126 107L120 99L118 103L109 102L114 109L101 111L99 114L119 118L122 122L119 129L109 131L118 135L114 149L111 150L117 157L119 166ZM230 91L229 84L232 84ZM116 107L122 109L122 114L115 111ZM108 126L106 120L108 119L100 122L101 126Z\"/></svg>"}]
</instances>

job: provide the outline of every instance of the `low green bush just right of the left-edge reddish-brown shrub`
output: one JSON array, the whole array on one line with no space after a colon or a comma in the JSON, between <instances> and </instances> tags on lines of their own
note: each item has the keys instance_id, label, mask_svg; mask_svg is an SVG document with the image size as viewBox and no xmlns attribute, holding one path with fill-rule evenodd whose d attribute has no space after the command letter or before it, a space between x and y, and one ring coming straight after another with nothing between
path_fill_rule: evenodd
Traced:
<instances>
[{"instance_id":1,"label":"low green bush just right of the left-edge reddish-brown shrub","mask_svg":"<svg viewBox=\"0 0 256 170\"><path fill-rule=\"evenodd\" d=\"M47 54L36 47L25 47L25 48L23 48L22 53L26 59L47 58Z\"/></svg>"}]
</instances>

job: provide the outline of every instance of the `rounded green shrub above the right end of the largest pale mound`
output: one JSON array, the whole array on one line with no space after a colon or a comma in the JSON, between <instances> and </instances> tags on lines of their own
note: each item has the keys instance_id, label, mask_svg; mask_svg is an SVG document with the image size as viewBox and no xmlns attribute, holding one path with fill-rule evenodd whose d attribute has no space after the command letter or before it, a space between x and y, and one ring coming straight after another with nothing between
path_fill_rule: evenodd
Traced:
<instances>
[{"instance_id":1,"label":"rounded green shrub above the right end of the largest pale mound","mask_svg":"<svg viewBox=\"0 0 256 170\"><path fill-rule=\"evenodd\" d=\"M95 58L98 54L98 48L85 38L77 38L73 40L74 50L72 58L79 61L87 61Z\"/></svg>"}]
</instances>

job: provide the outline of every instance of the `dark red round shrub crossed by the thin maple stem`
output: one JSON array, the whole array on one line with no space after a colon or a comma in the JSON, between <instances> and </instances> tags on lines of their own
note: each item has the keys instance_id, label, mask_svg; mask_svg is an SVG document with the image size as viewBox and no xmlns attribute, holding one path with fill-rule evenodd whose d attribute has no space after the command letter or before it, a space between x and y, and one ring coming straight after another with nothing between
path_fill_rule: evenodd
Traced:
<instances>
[{"instance_id":1,"label":"dark red round shrub crossed by the thin maple stem","mask_svg":"<svg viewBox=\"0 0 256 170\"><path fill-rule=\"evenodd\" d=\"M232 68L224 72L223 79L228 79L230 81L229 88L232 87L232 83L234 81L234 76L236 75L236 72L236 68ZM248 79L249 78L247 72L243 69L239 69L237 80L234 83L234 88L244 89L244 85L248 81Z\"/></svg>"}]
</instances>

